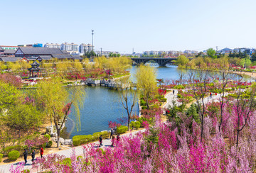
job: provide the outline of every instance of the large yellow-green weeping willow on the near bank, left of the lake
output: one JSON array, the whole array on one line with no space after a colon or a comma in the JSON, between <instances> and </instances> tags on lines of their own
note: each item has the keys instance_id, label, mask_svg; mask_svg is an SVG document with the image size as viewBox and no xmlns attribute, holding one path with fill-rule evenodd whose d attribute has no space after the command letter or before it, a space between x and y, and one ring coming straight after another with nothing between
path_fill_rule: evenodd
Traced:
<instances>
[{"instance_id":1,"label":"large yellow-green weeping willow on the near bank, left of the lake","mask_svg":"<svg viewBox=\"0 0 256 173\"><path fill-rule=\"evenodd\" d=\"M60 145L60 130L68 118L73 106L73 116L77 130L80 130L80 108L85 99L84 86L75 86L68 89L63 87L60 77L50 78L38 84L36 96L44 103L44 112L54 123L57 131L57 147Z\"/></svg>"}]
</instances>

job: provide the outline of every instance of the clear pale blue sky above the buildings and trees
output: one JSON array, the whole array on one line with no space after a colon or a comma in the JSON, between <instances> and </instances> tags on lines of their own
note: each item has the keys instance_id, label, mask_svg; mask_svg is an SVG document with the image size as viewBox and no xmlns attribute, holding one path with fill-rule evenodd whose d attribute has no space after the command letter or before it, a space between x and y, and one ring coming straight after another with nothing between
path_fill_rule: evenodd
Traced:
<instances>
[{"instance_id":1,"label":"clear pale blue sky above the buildings and trees","mask_svg":"<svg viewBox=\"0 0 256 173\"><path fill-rule=\"evenodd\" d=\"M92 43L95 50L255 48L255 0L0 0L0 45Z\"/></svg>"}]
</instances>

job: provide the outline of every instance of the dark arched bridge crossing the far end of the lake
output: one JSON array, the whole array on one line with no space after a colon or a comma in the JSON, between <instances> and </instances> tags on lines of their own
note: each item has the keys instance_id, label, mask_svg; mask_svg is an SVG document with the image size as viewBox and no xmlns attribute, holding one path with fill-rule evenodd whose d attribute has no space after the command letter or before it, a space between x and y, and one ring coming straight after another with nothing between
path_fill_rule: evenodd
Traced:
<instances>
[{"instance_id":1,"label":"dark arched bridge crossing the far end of the lake","mask_svg":"<svg viewBox=\"0 0 256 173\"><path fill-rule=\"evenodd\" d=\"M170 63L170 62L172 62L174 60L177 60L177 58L171 58L171 57L169 57L169 58L163 58L163 57L162 58L161 57L159 57L159 58L155 58L155 57L138 57L138 58L134 58L134 57L132 57L132 60L134 62L136 62L137 65L139 65L141 63L145 64L146 62L148 62L150 60L153 60L154 62L159 64L159 66L163 67L163 66L166 66L166 64L168 64L168 63Z\"/></svg>"}]
</instances>

